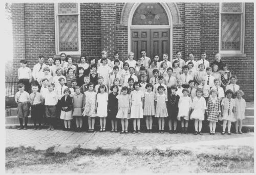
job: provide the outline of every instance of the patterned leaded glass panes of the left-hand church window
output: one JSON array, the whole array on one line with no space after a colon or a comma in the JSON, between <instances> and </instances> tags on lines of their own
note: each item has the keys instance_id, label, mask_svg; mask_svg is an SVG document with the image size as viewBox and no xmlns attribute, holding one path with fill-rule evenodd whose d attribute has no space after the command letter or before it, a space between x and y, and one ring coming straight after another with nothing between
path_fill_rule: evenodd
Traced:
<instances>
[{"instance_id":1,"label":"patterned leaded glass panes of the left-hand church window","mask_svg":"<svg viewBox=\"0 0 256 175\"><path fill-rule=\"evenodd\" d=\"M79 4L57 4L58 52L79 52ZM77 53L76 53L77 54Z\"/></svg>"}]
</instances>

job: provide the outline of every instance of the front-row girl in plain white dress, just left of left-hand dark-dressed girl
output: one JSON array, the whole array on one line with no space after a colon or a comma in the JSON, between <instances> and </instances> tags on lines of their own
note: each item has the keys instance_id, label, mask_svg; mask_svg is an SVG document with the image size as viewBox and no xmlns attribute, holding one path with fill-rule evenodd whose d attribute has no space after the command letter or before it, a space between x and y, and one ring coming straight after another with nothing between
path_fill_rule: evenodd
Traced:
<instances>
[{"instance_id":1,"label":"front-row girl in plain white dress, just left of left-hand dark-dressed girl","mask_svg":"<svg viewBox=\"0 0 256 175\"><path fill-rule=\"evenodd\" d=\"M106 86L100 85L97 93L97 116L99 117L100 132L105 132L106 116L108 116L109 94L106 93Z\"/></svg>"}]
</instances>

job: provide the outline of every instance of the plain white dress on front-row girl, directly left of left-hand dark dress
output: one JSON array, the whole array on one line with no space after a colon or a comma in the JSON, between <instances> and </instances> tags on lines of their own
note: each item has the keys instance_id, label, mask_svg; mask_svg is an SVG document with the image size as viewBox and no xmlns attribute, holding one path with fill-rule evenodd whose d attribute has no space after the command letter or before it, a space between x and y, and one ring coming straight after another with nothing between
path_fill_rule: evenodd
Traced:
<instances>
[{"instance_id":1,"label":"plain white dress on front-row girl, directly left of left-hand dark dress","mask_svg":"<svg viewBox=\"0 0 256 175\"><path fill-rule=\"evenodd\" d=\"M98 93L97 94L97 117L106 117L108 116L108 101L109 94L108 93Z\"/></svg>"}]
</instances>

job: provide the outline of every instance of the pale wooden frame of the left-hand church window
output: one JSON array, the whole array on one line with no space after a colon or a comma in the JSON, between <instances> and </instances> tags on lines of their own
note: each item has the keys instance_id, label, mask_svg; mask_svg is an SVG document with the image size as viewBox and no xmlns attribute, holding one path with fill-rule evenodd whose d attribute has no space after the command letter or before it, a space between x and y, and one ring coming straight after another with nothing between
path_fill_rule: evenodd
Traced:
<instances>
[{"instance_id":1,"label":"pale wooden frame of the left-hand church window","mask_svg":"<svg viewBox=\"0 0 256 175\"><path fill-rule=\"evenodd\" d=\"M77 3L77 13L58 13L58 4L54 3L54 22L55 22L55 53L60 55L65 53L66 55L81 55L81 26L80 26L80 3ZM59 15L77 15L78 16L78 51L59 51Z\"/></svg>"}]
</instances>

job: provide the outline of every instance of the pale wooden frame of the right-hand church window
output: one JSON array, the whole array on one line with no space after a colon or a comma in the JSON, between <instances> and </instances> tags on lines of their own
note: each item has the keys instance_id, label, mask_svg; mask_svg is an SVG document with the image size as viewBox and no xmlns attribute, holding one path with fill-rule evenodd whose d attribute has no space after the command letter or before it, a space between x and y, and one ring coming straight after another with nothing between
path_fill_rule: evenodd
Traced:
<instances>
[{"instance_id":1,"label":"pale wooden frame of the right-hand church window","mask_svg":"<svg viewBox=\"0 0 256 175\"><path fill-rule=\"evenodd\" d=\"M244 54L244 40L245 40L245 3L241 3L242 12L222 12L222 3L220 3L220 11L219 11L219 53L223 57L245 57ZM240 50L236 51L222 51L221 50L221 22L222 22L222 14L241 14L241 39L240 39Z\"/></svg>"}]
</instances>

